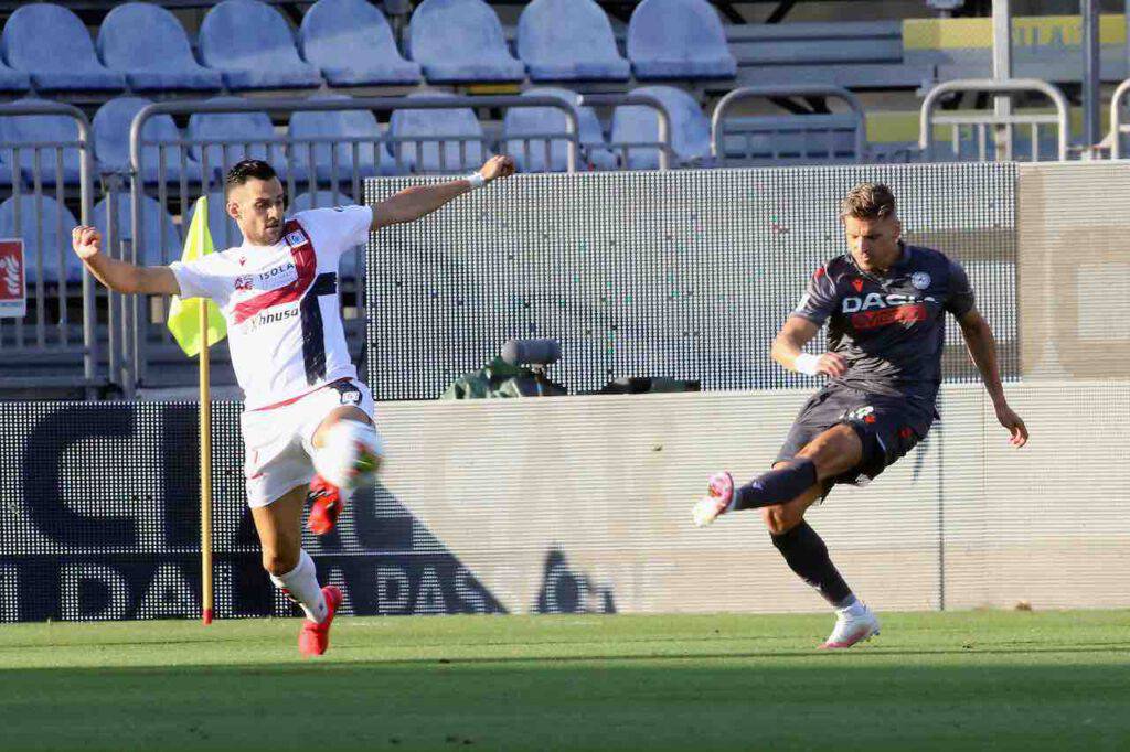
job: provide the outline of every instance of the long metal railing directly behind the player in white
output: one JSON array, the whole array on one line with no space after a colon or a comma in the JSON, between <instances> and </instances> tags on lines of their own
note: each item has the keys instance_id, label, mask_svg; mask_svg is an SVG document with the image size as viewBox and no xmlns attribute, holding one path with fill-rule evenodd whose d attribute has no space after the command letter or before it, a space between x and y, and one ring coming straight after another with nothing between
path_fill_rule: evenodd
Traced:
<instances>
[{"instance_id":1,"label":"long metal railing directly behind the player in white","mask_svg":"<svg viewBox=\"0 0 1130 752\"><path fill-rule=\"evenodd\" d=\"M405 134L391 135L382 132L374 122L370 135L358 137L290 137L278 135L244 139L191 139L153 140L142 138L146 124L162 115L207 115L233 113L262 113L290 116L308 112L359 112L359 111L419 111L457 108L511 108L541 107L559 110L565 115L565 128L558 133L518 135L501 138L455 134ZM130 217L129 243L113 242L125 257L136 263L168 263L180 255L180 247L168 248L166 244L154 246L147 233L156 230L162 238L168 233L172 216L160 211L156 220L146 221L147 211L157 211L151 204L144 204L147 186L155 194L157 208L180 207L183 224L186 225L191 206L203 193L223 190L223 176L244 155L264 158L279 172L288 196L299 198L299 192L308 193L311 206L319 206L320 191L329 192L331 201L340 199L362 201L366 177L384 173L407 172L446 173L478 167L493 145L508 140L529 141L544 138L547 152L551 141L564 142L566 147L566 170L575 172L579 152L579 119L574 105L550 96L484 96L484 97L358 97L342 99L253 99L253 100L180 100L153 104L144 107L130 125ZM391 147L386 151L386 147ZM420 163L425 161L424 165ZM156 163L154 165L153 163ZM417 168L417 169L414 169ZM424 167L419 169L419 167ZM148 180L147 180L148 178ZM172 189L172 191L171 191ZM305 191L303 191L305 189ZM171 196L169 193L179 195ZM219 203L219 202L211 202ZM214 229L217 247L228 247L241 242L238 229L226 219L223 206L210 208L214 221L223 221L221 231ZM147 229L148 226L148 229ZM111 238L113 241L113 238ZM353 285L344 283L342 292L354 296L350 309L364 309L364 285L359 279L363 269L364 248L354 252L354 268L358 278ZM165 301L146 301L131 298L128 303L123 324L125 358L121 369L121 381L128 395L138 383L149 382L149 355L162 353L177 357L167 329L163 325ZM220 366L224 362L220 358Z\"/></svg>"}]
</instances>

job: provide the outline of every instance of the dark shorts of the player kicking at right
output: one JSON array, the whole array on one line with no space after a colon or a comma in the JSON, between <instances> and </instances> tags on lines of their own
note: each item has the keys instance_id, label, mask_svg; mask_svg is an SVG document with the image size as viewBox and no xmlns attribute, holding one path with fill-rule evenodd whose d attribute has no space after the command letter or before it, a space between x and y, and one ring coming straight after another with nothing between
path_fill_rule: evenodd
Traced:
<instances>
[{"instance_id":1,"label":"dark shorts of the player kicking at right","mask_svg":"<svg viewBox=\"0 0 1130 752\"><path fill-rule=\"evenodd\" d=\"M925 438L936 417L932 404L829 384L801 408L774 464L792 460L817 436L846 423L863 443L863 458L851 470L825 480L824 493L835 483L864 486Z\"/></svg>"}]
</instances>

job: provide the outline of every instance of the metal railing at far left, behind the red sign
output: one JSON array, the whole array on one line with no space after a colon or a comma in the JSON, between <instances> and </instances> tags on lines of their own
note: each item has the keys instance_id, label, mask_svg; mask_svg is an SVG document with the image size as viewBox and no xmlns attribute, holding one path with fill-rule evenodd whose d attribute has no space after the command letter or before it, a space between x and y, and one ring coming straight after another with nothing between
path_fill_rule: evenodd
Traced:
<instances>
[{"instance_id":1,"label":"metal railing at far left, behind the red sign","mask_svg":"<svg viewBox=\"0 0 1130 752\"><path fill-rule=\"evenodd\" d=\"M108 379L98 373L96 288L71 250L70 231L76 221L90 224L93 217L90 123L80 110L67 104L0 105L0 117L19 121L33 116L72 121L76 138L52 141L36 132L27 140L20 140L20 134L0 143L11 189L10 193L3 191L0 204L0 235L24 243L29 298L24 320L0 318L0 358L3 367L12 369L0 374L0 387L76 386L85 387L89 396ZM38 131L38 125L29 128ZM77 152L75 158L72 152ZM78 220L68 204L78 209ZM107 329L113 358L113 322ZM79 360L81 375L75 373Z\"/></svg>"}]
</instances>

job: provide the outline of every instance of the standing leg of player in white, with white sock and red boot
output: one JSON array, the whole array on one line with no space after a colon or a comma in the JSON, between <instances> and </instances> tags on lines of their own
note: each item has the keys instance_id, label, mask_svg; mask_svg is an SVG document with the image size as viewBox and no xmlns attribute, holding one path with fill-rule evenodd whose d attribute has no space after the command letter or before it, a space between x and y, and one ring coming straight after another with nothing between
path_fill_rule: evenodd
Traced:
<instances>
[{"instance_id":1,"label":"standing leg of player in white, with white sock and red boot","mask_svg":"<svg viewBox=\"0 0 1130 752\"><path fill-rule=\"evenodd\" d=\"M330 624L341 602L341 592L333 585L320 587L314 560L302 550L302 509L306 486L290 489L266 507L254 507L262 546L263 568L275 583L306 614L298 633L298 649L304 655L321 655L329 647Z\"/></svg>"}]
</instances>

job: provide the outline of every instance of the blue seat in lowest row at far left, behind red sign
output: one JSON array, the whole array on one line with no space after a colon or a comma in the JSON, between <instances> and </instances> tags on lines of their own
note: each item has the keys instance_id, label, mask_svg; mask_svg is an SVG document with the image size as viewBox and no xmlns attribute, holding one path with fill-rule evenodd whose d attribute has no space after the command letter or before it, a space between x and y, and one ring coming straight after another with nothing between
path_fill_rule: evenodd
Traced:
<instances>
[{"instance_id":1,"label":"blue seat in lowest row at far left, behind red sign","mask_svg":"<svg viewBox=\"0 0 1130 752\"><path fill-rule=\"evenodd\" d=\"M34 285L40 279L40 270L36 266L36 257L40 254L43 257L44 285L55 285L60 279L66 279L69 285L82 280L82 262L70 247L70 231L77 225L75 215L50 195L14 195L0 203L0 237L23 238L29 290L34 291ZM60 260L62 274L59 273Z\"/></svg>"}]
</instances>

